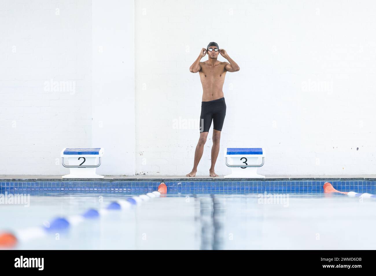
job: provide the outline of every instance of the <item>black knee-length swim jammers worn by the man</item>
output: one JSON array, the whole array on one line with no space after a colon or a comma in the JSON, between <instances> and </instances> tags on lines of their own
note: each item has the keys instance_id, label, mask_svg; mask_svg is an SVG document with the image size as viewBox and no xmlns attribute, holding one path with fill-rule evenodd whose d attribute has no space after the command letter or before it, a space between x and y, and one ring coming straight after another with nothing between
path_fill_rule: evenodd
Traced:
<instances>
[{"instance_id":1,"label":"black knee-length swim jammers worn by the man","mask_svg":"<svg viewBox=\"0 0 376 276\"><path fill-rule=\"evenodd\" d=\"M209 102L201 102L200 132L209 132L211 121L215 130L222 130L226 116L224 97Z\"/></svg>"}]
</instances>

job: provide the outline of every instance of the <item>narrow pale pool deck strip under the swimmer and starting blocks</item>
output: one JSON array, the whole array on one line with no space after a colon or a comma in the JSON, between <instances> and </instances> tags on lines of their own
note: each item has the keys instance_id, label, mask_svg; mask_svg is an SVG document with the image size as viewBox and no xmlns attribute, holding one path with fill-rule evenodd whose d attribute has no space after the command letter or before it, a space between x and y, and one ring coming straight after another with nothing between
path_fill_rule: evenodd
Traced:
<instances>
[{"instance_id":1,"label":"narrow pale pool deck strip under the swimmer and starting blocks","mask_svg":"<svg viewBox=\"0 0 376 276\"><path fill-rule=\"evenodd\" d=\"M376 175L266 175L265 178L224 178L198 175L105 175L105 178L61 178L62 175L0 175L0 181L279 181L279 180L376 180Z\"/></svg>"}]
</instances>

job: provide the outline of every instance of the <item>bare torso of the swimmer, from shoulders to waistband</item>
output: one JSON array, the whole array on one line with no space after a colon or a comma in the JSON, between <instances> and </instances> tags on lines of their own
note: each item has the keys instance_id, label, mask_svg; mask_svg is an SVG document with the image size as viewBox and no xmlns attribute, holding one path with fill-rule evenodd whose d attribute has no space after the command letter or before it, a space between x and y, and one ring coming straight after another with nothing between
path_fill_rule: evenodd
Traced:
<instances>
[{"instance_id":1,"label":"bare torso of the swimmer, from shoulders to waistband","mask_svg":"<svg viewBox=\"0 0 376 276\"><path fill-rule=\"evenodd\" d=\"M202 84L202 101L208 102L223 96L223 83L226 76L226 62L218 61L214 66L207 62L200 62L200 79Z\"/></svg>"}]
</instances>

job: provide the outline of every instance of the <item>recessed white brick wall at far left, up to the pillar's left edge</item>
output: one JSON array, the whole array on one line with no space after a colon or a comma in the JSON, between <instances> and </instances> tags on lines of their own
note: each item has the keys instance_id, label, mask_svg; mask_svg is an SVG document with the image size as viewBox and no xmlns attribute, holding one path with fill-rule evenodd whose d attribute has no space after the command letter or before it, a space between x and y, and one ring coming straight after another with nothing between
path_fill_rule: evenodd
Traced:
<instances>
[{"instance_id":1,"label":"recessed white brick wall at far left, up to the pillar's left edge","mask_svg":"<svg viewBox=\"0 0 376 276\"><path fill-rule=\"evenodd\" d=\"M91 145L91 28L88 0L1 2L0 174L64 174Z\"/></svg>"}]
</instances>

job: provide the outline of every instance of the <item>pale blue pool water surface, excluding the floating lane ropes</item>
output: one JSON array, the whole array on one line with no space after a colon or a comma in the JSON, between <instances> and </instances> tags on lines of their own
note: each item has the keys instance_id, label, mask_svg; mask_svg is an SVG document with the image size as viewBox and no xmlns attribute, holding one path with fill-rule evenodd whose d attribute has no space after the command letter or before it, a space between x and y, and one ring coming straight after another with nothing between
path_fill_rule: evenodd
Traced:
<instances>
[{"instance_id":1,"label":"pale blue pool water surface, excluding the floating lane ropes","mask_svg":"<svg viewBox=\"0 0 376 276\"><path fill-rule=\"evenodd\" d=\"M374 249L376 201L323 193L167 195L86 219L15 249ZM31 196L1 205L0 230L41 226L57 216L105 208L129 195Z\"/></svg>"}]
</instances>

